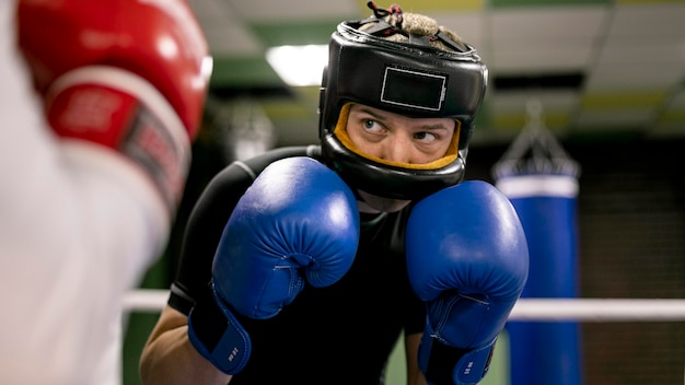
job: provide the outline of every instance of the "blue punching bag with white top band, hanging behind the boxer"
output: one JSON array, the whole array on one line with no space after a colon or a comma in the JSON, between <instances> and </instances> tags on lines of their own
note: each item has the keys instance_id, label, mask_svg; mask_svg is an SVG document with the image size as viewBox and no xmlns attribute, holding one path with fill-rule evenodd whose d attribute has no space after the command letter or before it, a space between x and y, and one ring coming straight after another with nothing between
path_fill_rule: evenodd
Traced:
<instances>
[{"instance_id":1,"label":"blue punching bag with white top band, hanging behind the boxer","mask_svg":"<svg viewBox=\"0 0 685 385\"><path fill-rule=\"evenodd\" d=\"M579 166L541 124L542 105L494 166L496 186L512 202L529 243L522 298L570 299L578 290ZM579 325L509 322L511 385L582 384Z\"/></svg>"}]
</instances>

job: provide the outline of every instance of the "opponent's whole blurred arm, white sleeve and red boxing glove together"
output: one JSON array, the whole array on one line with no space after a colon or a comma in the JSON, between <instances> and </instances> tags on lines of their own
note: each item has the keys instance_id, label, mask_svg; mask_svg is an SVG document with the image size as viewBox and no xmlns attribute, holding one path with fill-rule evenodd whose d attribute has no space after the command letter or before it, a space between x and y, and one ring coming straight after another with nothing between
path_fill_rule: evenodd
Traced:
<instances>
[{"instance_id":1,"label":"opponent's whole blurred arm, white sleeve and red boxing glove together","mask_svg":"<svg viewBox=\"0 0 685 385\"><path fill-rule=\"evenodd\" d=\"M121 298L167 236L207 46L182 1L3 1L0 24L0 382L104 384Z\"/></svg>"}]
</instances>

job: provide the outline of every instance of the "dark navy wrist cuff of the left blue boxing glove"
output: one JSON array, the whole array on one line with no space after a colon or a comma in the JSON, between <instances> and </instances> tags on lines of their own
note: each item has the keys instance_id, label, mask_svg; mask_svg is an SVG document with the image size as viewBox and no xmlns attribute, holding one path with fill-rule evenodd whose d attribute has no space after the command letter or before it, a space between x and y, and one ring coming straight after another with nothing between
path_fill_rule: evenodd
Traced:
<instances>
[{"instance_id":1,"label":"dark navy wrist cuff of the left blue boxing glove","mask_svg":"<svg viewBox=\"0 0 685 385\"><path fill-rule=\"evenodd\" d=\"M245 368L252 342L249 336L211 284L213 299L198 301L188 315L188 338L195 349L225 374Z\"/></svg>"}]
</instances>

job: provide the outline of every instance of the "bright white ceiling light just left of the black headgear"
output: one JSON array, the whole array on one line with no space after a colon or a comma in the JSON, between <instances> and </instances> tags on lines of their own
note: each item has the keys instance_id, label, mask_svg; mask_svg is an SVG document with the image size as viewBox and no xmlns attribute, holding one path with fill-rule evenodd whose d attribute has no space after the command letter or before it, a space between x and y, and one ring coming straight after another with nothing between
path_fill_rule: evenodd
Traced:
<instances>
[{"instance_id":1,"label":"bright white ceiling light just left of the black headgear","mask_svg":"<svg viewBox=\"0 0 685 385\"><path fill-rule=\"evenodd\" d=\"M328 62L327 45L280 46L266 51L266 60L288 85L321 85Z\"/></svg>"}]
</instances>

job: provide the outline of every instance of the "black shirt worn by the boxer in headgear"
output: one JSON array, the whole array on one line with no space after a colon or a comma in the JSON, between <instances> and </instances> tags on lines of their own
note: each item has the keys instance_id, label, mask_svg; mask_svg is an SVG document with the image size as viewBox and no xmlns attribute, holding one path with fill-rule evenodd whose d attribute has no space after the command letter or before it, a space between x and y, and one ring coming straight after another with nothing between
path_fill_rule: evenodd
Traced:
<instances>
[{"instance_id":1,"label":"black shirt worn by the boxer in headgear","mask_svg":"<svg viewBox=\"0 0 685 385\"><path fill-rule=\"evenodd\" d=\"M188 220L172 307L188 314L195 301L209 294L223 228L256 175L279 159L320 159L320 153L318 147L272 150L229 165L209 183ZM252 355L231 384L382 384L398 337L420 332L426 318L406 271L409 211L362 214L359 248L345 277L326 288L306 285L277 316L243 325Z\"/></svg>"}]
</instances>

